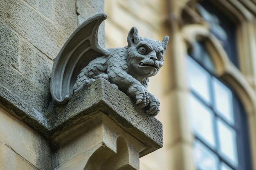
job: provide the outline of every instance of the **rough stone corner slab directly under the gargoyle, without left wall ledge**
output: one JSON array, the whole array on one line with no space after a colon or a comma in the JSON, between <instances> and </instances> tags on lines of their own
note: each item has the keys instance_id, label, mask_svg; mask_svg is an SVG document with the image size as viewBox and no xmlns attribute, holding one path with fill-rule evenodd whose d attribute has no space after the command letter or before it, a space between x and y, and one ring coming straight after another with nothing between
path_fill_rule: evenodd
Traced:
<instances>
[{"instance_id":1,"label":"rough stone corner slab directly under the gargoyle, without left wall ledge","mask_svg":"<svg viewBox=\"0 0 256 170\"><path fill-rule=\"evenodd\" d=\"M125 93L105 79L97 79L88 88L72 95L67 104L55 108L48 120L48 135L54 140L99 112L108 115L146 146L140 157L163 146L162 123L146 115L144 110L137 109Z\"/></svg>"}]
</instances>

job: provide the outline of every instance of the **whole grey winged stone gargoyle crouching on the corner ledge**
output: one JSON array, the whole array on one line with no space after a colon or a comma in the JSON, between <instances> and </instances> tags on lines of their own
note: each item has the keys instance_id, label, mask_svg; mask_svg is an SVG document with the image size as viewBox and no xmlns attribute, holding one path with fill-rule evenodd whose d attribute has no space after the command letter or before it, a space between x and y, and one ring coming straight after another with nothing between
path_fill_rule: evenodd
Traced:
<instances>
[{"instance_id":1,"label":"whole grey winged stone gargoyle crouching on the corner ledge","mask_svg":"<svg viewBox=\"0 0 256 170\"><path fill-rule=\"evenodd\" d=\"M70 95L101 77L126 93L138 108L157 115L160 103L147 91L148 77L163 66L168 36L162 42L141 38L137 28L132 27L128 46L103 49L97 33L106 18L105 13L100 13L83 22L54 59L50 85L53 99L64 104Z\"/></svg>"}]
</instances>

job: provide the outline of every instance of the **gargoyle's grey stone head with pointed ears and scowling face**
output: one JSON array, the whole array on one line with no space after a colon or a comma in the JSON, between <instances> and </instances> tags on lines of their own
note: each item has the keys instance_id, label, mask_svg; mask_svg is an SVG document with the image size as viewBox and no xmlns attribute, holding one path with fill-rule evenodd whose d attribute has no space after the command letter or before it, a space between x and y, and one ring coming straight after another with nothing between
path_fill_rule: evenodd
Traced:
<instances>
[{"instance_id":1,"label":"gargoyle's grey stone head with pointed ears and scowling face","mask_svg":"<svg viewBox=\"0 0 256 170\"><path fill-rule=\"evenodd\" d=\"M164 64L164 53L168 40L168 36L165 36L162 42L141 38L137 28L132 27L127 37L127 62L130 74L134 77L151 77L156 75Z\"/></svg>"}]
</instances>

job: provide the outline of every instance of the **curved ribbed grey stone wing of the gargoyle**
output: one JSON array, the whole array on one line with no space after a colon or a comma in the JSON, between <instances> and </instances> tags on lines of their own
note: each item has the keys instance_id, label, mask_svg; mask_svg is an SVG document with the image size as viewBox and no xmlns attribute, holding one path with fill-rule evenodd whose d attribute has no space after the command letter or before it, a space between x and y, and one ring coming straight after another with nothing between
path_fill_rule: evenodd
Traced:
<instances>
[{"instance_id":1,"label":"curved ribbed grey stone wing of the gargoyle","mask_svg":"<svg viewBox=\"0 0 256 170\"><path fill-rule=\"evenodd\" d=\"M50 90L58 104L64 104L73 94L77 75L96 57L106 56L109 51L98 43L98 29L105 13L99 13L81 24L66 41L54 59Z\"/></svg>"}]
</instances>

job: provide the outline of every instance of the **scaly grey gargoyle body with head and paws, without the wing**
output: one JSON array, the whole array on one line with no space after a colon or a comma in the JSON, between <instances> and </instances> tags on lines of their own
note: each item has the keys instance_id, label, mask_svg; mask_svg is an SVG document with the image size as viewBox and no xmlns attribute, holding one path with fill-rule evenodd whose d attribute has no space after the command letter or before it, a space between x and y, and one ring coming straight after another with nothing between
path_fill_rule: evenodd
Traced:
<instances>
[{"instance_id":1,"label":"scaly grey gargoyle body with head and paws, without the wing","mask_svg":"<svg viewBox=\"0 0 256 170\"><path fill-rule=\"evenodd\" d=\"M147 91L148 77L156 75L164 63L168 36L162 42L139 37L136 27L128 33L128 46L108 49L108 55L92 60L77 76L74 93L98 78L107 79L126 93L138 108L155 116L159 113L158 99Z\"/></svg>"}]
</instances>

